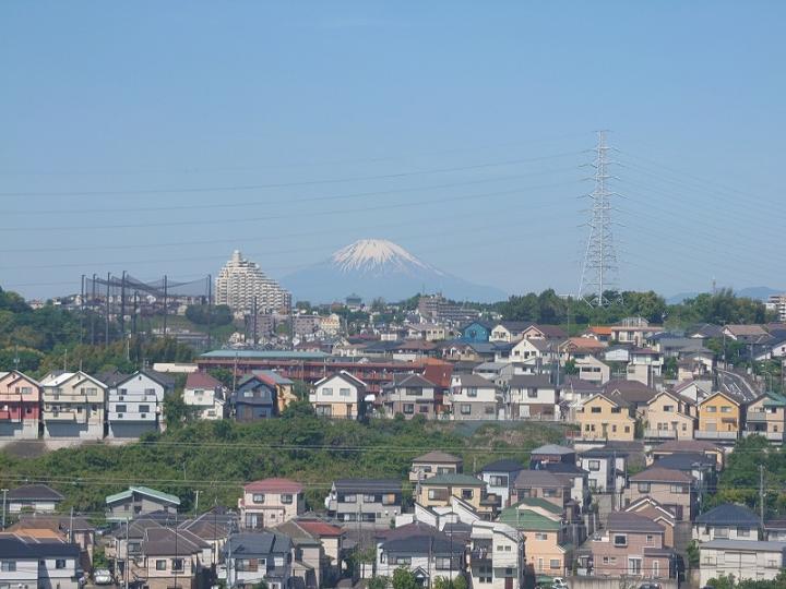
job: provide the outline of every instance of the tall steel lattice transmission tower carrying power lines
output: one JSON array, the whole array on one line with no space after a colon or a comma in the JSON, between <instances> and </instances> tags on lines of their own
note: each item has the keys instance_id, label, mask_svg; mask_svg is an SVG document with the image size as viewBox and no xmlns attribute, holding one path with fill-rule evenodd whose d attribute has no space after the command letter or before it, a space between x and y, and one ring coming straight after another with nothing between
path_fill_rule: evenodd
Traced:
<instances>
[{"instance_id":1,"label":"tall steel lattice transmission tower carrying power lines","mask_svg":"<svg viewBox=\"0 0 786 589\"><path fill-rule=\"evenodd\" d=\"M606 144L605 131L598 131L597 135L595 159L590 164L595 169L591 177L595 189L588 194L592 201L587 223L590 237L579 284L579 298L590 304L604 306L609 302L604 293L612 289L617 274L617 253L611 231L611 197L617 193L609 190L609 180L614 179L608 172L611 164L608 152L611 147Z\"/></svg>"}]
</instances>

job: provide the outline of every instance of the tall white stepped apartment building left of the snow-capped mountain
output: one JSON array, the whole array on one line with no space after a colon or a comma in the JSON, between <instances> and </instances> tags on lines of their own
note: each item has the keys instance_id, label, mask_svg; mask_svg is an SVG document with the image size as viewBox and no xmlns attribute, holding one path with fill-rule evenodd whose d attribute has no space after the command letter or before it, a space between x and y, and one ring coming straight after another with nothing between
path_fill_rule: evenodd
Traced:
<instances>
[{"instance_id":1,"label":"tall white stepped apartment building left of the snow-capped mountain","mask_svg":"<svg viewBox=\"0 0 786 589\"><path fill-rule=\"evenodd\" d=\"M242 257L239 250L233 252L216 277L216 304L226 304L235 313L253 310L254 297L259 313L286 310L291 294L278 283L265 276L255 262Z\"/></svg>"}]
</instances>

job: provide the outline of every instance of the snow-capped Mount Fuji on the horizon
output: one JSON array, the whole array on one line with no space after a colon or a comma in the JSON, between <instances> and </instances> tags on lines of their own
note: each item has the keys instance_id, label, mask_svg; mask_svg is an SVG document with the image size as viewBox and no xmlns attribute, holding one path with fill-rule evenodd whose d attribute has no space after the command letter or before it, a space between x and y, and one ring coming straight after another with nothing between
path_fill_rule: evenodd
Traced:
<instances>
[{"instance_id":1,"label":"snow-capped Mount Fuji on the horizon","mask_svg":"<svg viewBox=\"0 0 786 589\"><path fill-rule=\"evenodd\" d=\"M497 301L505 293L468 283L427 264L401 245L384 239L361 239L334 252L326 261L285 277L296 300L312 303L343 300L357 293L366 301L407 299L422 292L442 292L455 300Z\"/></svg>"}]
</instances>

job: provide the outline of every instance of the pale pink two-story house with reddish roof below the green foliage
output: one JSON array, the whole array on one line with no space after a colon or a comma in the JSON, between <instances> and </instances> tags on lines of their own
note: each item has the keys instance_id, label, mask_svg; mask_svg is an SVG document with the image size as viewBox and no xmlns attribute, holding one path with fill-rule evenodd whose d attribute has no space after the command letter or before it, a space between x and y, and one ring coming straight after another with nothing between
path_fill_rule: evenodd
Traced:
<instances>
[{"instance_id":1,"label":"pale pink two-story house with reddish roof below the green foliage","mask_svg":"<svg viewBox=\"0 0 786 589\"><path fill-rule=\"evenodd\" d=\"M238 498L240 525L247 530L272 528L306 512L303 488L289 479L263 479L243 485Z\"/></svg>"}]
</instances>

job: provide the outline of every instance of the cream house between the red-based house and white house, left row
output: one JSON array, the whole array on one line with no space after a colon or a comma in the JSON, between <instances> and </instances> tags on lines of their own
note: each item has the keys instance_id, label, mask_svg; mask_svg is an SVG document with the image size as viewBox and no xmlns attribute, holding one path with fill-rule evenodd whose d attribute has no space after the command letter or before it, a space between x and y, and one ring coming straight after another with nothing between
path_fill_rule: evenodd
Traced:
<instances>
[{"instance_id":1,"label":"cream house between the red-based house and white house, left row","mask_svg":"<svg viewBox=\"0 0 786 589\"><path fill-rule=\"evenodd\" d=\"M106 386L84 372L51 373L40 382L45 438L104 437Z\"/></svg>"}]
</instances>

